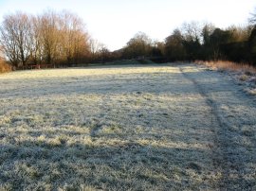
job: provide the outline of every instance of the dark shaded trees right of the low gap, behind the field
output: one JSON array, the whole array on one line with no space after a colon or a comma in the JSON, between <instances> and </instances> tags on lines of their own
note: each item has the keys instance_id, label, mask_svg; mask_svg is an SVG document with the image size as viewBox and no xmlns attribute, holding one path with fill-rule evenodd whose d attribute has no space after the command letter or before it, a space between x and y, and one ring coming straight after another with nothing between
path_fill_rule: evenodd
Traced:
<instances>
[{"instance_id":1,"label":"dark shaded trees right of the low gap, behind the field","mask_svg":"<svg viewBox=\"0 0 256 191\"><path fill-rule=\"evenodd\" d=\"M145 33L139 32L119 50L119 56L122 59L151 58L156 61L225 60L256 65L255 23L254 20L254 25L226 29L212 24L184 23L164 42L152 41Z\"/></svg>"}]
</instances>

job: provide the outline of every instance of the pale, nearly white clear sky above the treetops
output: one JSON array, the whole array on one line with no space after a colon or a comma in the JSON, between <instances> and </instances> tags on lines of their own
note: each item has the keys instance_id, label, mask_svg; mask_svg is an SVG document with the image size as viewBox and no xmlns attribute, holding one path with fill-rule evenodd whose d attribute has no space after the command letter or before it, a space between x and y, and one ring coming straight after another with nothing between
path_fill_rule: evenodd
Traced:
<instances>
[{"instance_id":1,"label":"pale, nearly white clear sky above the treetops","mask_svg":"<svg viewBox=\"0 0 256 191\"><path fill-rule=\"evenodd\" d=\"M137 31L162 41L183 22L245 25L255 8L255 0L0 0L0 21L16 10L68 9L82 17L93 38L114 50Z\"/></svg>"}]
</instances>

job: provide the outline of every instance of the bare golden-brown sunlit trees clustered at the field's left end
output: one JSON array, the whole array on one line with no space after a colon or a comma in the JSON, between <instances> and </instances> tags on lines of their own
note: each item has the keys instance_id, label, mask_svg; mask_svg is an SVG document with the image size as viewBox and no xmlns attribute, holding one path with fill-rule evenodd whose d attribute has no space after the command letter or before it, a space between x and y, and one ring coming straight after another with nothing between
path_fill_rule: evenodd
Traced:
<instances>
[{"instance_id":1,"label":"bare golden-brown sunlit trees clustered at the field's left end","mask_svg":"<svg viewBox=\"0 0 256 191\"><path fill-rule=\"evenodd\" d=\"M85 61L88 38L82 19L68 11L16 12L6 15L0 26L2 51L15 67Z\"/></svg>"}]
</instances>

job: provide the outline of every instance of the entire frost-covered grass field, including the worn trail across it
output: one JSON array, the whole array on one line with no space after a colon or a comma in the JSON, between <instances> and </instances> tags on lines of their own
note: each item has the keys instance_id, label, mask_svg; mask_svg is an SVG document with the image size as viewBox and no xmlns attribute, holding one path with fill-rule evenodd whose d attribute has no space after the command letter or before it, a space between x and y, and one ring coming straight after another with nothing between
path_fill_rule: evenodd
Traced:
<instances>
[{"instance_id":1,"label":"entire frost-covered grass field, including the worn trail across it","mask_svg":"<svg viewBox=\"0 0 256 191\"><path fill-rule=\"evenodd\" d=\"M0 190L255 190L256 104L194 65L0 76Z\"/></svg>"}]
</instances>

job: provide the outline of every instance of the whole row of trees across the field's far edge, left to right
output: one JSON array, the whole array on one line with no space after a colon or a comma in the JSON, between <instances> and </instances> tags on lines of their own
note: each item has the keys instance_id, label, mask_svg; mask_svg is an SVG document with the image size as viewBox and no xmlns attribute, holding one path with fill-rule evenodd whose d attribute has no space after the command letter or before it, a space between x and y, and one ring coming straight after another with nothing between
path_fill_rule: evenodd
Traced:
<instances>
[{"instance_id":1,"label":"whole row of trees across the field's far edge, left to right","mask_svg":"<svg viewBox=\"0 0 256 191\"><path fill-rule=\"evenodd\" d=\"M138 32L114 52L88 34L82 19L69 11L46 10L6 15L0 26L0 50L12 66L71 66L78 63L130 59L153 61L249 62L256 65L256 13L247 26L221 29L212 24L184 23L164 42Z\"/></svg>"}]
</instances>

